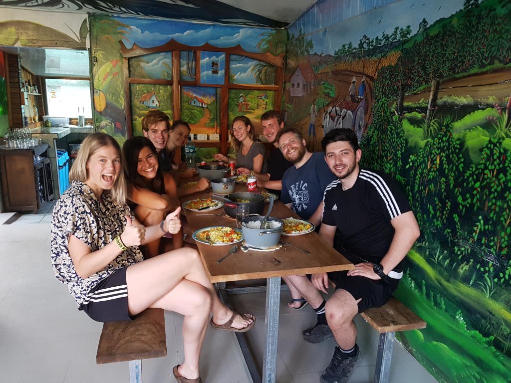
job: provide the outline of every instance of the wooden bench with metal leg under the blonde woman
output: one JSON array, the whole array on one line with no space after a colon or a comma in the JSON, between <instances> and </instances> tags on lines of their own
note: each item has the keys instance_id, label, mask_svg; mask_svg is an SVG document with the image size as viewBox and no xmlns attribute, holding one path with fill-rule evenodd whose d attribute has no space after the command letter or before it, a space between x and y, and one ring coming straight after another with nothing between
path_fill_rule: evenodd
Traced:
<instances>
[{"instance_id":1,"label":"wooden bench with metal leg under the blonde woman","mask_svg":"<svg viewBox=\"0 0 511 383\"><path fill-rule=\"evenodd\" d=\"M129 362L130 383L142 383L142 360L166 355L164 310L147 308L132 321L103 324L96 364Z\"/></svg>"}]
</instances>

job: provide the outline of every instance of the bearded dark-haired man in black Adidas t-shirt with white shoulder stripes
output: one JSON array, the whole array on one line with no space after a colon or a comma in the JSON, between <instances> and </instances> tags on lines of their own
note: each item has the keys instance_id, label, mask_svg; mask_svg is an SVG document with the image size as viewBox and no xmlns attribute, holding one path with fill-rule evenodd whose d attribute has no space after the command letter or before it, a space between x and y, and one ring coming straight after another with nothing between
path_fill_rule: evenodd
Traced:
<instances>
[{"instance_id":1,"label":"bearded dark-haired man in black Adidas t-shirt with white shoulder stripes","mask_svg":"<svg viewBox=\"0 0 511 383\"><path fill-rule=\"evenodd\" d=\"M289 278L328 321L326 325L318 320L304 331L304 339L317 343L333 336L339 345L320 381L345 382L360 358L353 319L388 301L403 275L403 259L420 231L397 183L383 173L360 169L362 151L352 130L334 129L321 145L337 180L324 192L319 235L352 261L355 269L328 276L313 274L312 283L303 276ZM329 278L335 293L325 302L320 291L328 293Z\"/></svg>"}]
</instances>

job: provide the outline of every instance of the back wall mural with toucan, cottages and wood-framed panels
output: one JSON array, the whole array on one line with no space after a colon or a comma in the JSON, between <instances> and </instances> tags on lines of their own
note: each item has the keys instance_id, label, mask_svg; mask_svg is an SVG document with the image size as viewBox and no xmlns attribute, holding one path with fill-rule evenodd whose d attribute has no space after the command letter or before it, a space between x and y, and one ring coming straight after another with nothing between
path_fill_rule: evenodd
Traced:
<instances>
[{"instance_id":1,"label":"back wall mural with toucan, cottages and wood-framed panels","mask_svg":"<svg viewBox=\"0 0 511 383\"><path fill-rule=\"evenodd\" d=\"M287 38L284 30L110 16L91 16L90 25L95 123L121 143L128 135L126 109L131 111L135 135L142 133L141 120L154 108L165 110L171 119L185 119L193 134L219 134L222 92L230 94L230 87L260 84L258 78L265 79L269 89L259 90L253 97L253 90L243 89L250 99L243 110L252 113L253 109L261 109L263 103L258 106L255 100L262 93L265 93L264 105L273 107L273 92L278 88L274 85L275 74L272 75L274 65L238 52L282 62ZM179 51L175 70L174 51ZM228 56L240 60L242 66L230 71L228 78L241 76L246 82L225 83L225 71L230 68L230 65L226 68ZM127 73L125 58L128 58ZM243 77L247 71L251 77ZM173 88L174 81L179 81L181 87L177 95L172 94L177 89ZM218 140L216 136L213 139Z\"/></svg>"}]
</instances>

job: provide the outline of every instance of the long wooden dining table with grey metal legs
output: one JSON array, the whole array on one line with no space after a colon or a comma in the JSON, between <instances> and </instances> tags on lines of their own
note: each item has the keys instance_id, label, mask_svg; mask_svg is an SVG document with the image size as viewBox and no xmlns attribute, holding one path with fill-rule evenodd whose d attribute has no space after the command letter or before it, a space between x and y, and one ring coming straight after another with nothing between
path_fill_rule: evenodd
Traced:
<instances>
[{"instance_id":1,"label":"long wooden dining table with grey metal legs","mask_svg":"<svg viewBox=\"0 0 511 383\"><path fill-rule=\"evenodd\" d=\"M245 184L237 184L235 187L235 192L246 191L247 187ZM181 197L181 203L196 198L215 198L215 196L212 195L211 189L206 189L201 193ZM219 198L218 200L221 201ZM265 204L264 213L266 213L267 209L268 203ZM184 216L187 218L188 224L193 231L210 226L237 227L236 219L228 217L225 213L216 215L222 211L223 207L208 211L192 211L183 208ZM295 212L279 200L275 201L270 215L277 218L299 218ZM282 244L282 242L290 245ZM247 363L247 369L253 382L275 382L281 277L354 268L349 260L334 250L332 246L322 240L314 231L302 235L282 235L282 247L273 251L248 250L244 252L240 249L220 263L217 263L217 260L226 255L233 245L212 246L200 242L196 242L196 244L211 282L220 282L222 286L225 286L225 283L222 282L267 279L265 318L267 330L262 377L258 369L255 368L255 363L253 363L246 343L245 346L242 345L244 342L242 334L237 333L237 338ZM310 254L306 254L298 249L303 249ZM223 296L226 296L226 294L223 294Z\"/></svg>"}]
</instances>

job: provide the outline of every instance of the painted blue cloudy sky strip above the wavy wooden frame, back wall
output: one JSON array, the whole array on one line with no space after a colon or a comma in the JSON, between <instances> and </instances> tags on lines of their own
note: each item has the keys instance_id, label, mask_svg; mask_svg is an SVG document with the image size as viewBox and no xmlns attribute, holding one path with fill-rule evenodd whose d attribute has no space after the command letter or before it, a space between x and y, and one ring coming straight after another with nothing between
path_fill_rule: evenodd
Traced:
<instances>
[{"instance_id":1,"label":"painted blue cloudy sky strip above the wavy wooden frame, back wall","mask_svg":"<svg viewBox=\"0 0 511 383\"><path fill-rule=\"evenodd\" d=\"M260 52L257 43L259 35L271 31L269 28L246 28L207 25L183 21L162 21L134 18L115 18L129 25L123 42L129 49L136 43L143 48L165 44L174 39L182 44L200 46L206 42L218 47L230 47L240 44L248 52Z\"/></svg>"}]
</instances>

